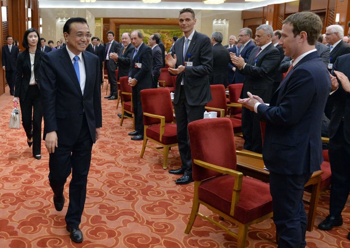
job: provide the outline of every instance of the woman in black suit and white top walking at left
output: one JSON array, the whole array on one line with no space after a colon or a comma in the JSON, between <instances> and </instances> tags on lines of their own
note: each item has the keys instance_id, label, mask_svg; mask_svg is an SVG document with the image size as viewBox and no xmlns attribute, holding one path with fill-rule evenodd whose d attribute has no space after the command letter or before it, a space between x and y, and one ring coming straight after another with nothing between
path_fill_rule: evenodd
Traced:
<instances>
[{"instance_id":1,"label":"woman in black suit and white top walking at left","mask_svg":"<svg viewBox=\"0 0 350 248\"><path fill-rule=\"evenodd\" d=\"M41 121L42 105L38 87L40 61L44 55L40 51L40 35L34 28L28 29L23 36L22 45L26 49L18 54L15 97L22 112L22 124L27 135L29 147L33 145L33 157L41 159ZM33 115L32 115L33 113Z\"/></svg>"}]
</instances>

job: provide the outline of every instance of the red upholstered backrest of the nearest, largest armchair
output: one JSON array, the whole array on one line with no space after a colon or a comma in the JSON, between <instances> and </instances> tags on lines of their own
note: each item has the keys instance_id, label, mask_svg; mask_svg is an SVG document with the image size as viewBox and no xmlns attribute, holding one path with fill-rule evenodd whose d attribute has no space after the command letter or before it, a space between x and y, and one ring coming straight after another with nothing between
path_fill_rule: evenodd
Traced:
<instances>
[{"instance_id":1,"label":"red upholstered backrest of the nearest, largest armchair","mask_svg":"<svg viewBox=\"0 0 350 248\"><path fill-rule=\"evenodd\" d=\"M236 169L237 158L232 123L228 118L202 119L188 124L194 180L220 175L193 163L193 159Z\"/></svg>"}]
</instances>

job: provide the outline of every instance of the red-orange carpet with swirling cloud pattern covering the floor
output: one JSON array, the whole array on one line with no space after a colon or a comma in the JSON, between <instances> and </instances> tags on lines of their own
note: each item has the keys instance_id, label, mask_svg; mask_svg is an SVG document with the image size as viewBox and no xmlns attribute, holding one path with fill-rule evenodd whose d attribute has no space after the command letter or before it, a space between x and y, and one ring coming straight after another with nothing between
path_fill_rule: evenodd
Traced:
<instances>
[{"instance_id":1,"label":"red-orange carpet with swirling cloud pattern covering the floor","mask_svg":"<svg viewBox=\"0 0 350 248\"><path fill-rule=\"evenodd\" d=\"M103 90L104 91L104 90ZM105 93L105 92L104 92ZM103 96L104 96L103 93ZM162 156L142 142L131 141L132 123L120 126L117 101L103 99L102 137L94 145L88 193L81 229L84 242L70 241L62 212L53 207L48 184L48 153L42 142L42 159L32 157L23 129L8 128L12 97L0 96L0 244L1 248L235 248L237 241L200 218L185 234L192 207L193 184L175 185L178 176L162 169ZM238 146L242 142L238 142ZM171 150L168 168L180 166L178 149ZM65 189L68 199L68 184ZM350 202L344 224L320 231L318 223L329 208L329 191L321 193L315 230L307 232L310 248L349 248ZM212 213L202 208L202 212ZM236 227L226 222L233 229ZM270 248L275 243L271 219L248 229L246 247Z\"/></svg>"}]
</instances>

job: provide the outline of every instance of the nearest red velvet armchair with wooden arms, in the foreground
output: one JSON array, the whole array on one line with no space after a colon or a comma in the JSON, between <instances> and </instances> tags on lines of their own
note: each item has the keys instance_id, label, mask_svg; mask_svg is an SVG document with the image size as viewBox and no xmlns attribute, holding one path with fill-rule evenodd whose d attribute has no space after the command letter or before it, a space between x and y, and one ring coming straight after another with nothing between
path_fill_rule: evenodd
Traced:
<instances>
[{"instance_id":1,"label":"nearest red velvet armchair with wooden arms, in the foreground","mask_svg":"<svg viewBox=\"0 0 350 248\"><path fill-rule=\"evenodd\" d=\"M249 225L271 218L269 185L236 171L236 152L232 123L227 118L203 119L188 125L194 179L192 212L185 233L196 216L226 230L244 248ZM223 139L225 134L225 139ZM199 213L202 204L238 225L238 233L209 216Z\"/></svg>"}]
</instances>

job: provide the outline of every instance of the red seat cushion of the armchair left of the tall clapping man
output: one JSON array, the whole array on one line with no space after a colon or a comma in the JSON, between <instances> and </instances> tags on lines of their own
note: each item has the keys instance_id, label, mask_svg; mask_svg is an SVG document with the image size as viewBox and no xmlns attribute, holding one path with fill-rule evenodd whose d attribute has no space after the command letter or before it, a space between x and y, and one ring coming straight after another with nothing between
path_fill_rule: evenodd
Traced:
<instances>
[{"instance_id":1,"label":"red seat cushion of the armchair left of the tall clapping man","mask_svg":"<svg viewBox=\"0 0 350 248\"><path fill-rule=\"evenodd\" d=\"M155 141L162 142L163 144L175 144L177 143L176 137L176 124L166 123L164 127L164 134L162 140L159 141L160 125L151 125L146 128L146 136Z\"/></svg>"}]
</instances>

